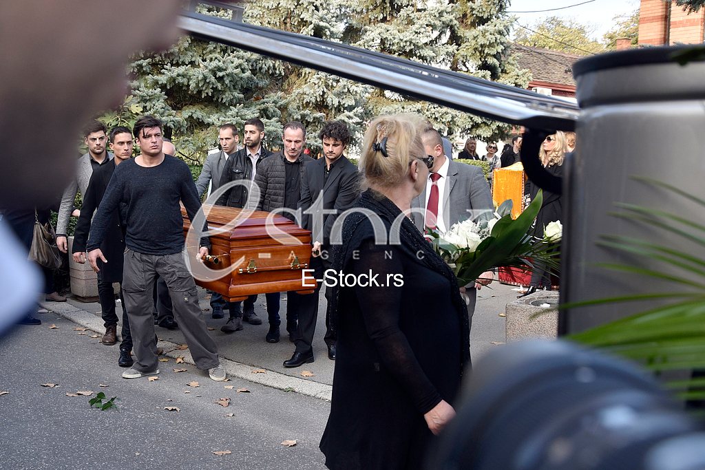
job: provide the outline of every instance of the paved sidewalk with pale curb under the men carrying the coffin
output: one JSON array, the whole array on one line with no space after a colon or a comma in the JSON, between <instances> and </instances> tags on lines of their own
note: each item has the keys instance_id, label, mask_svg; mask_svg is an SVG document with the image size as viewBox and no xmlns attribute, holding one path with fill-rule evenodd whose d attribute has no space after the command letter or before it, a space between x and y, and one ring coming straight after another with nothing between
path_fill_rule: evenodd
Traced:
<instances>
[{"instance_id":1,"label":"paved sidewalk with pale curb under the men carrying the coffin","mask_svg":"<svg viewBox=\"0 0 705 470\"><path fill-rule=\"evenodd\" d=\"M505 319L500 314L505 311L505 305L516 299L515 287L503 285L495 281L491 288L484 287L477 296L477 307L472 319L472 330L470 332L470 350L472 360L477 361L489 350L498 347L496 343L505 342L504 322ZM254 326L245 323L245 329L235 333L223 333L220 327L226 323L226 318L214 320L211 317L211 310L208 294L199 287L200 305L206 323L212 330L212 336L218 346L221 361L226 367L228 376L242 378L250 382L260 383L269 387L281 390L290 390L319 398L321 400L331 400L331 388L333 383L333 369L335 361L328 359L326 345L323 341L325 332L325 311L326 300L321 293L319 305L319 319L314 338L315 361L312 364L294 369L287 369L282 366L282 362L291 357L294 352L294 345L289 342L286 328L281 328L281 340L278 343L268 343L264 340L269 330L267 323L266 309L264 308L264 295L260 295L255 304L255 311L262 319L262 325ZM282 294L281 317L286 324L286 294ZM97 333L104 333L103 321L100 316L101 306L99 303L85 303L77 299L70 298L68 302L43 302L42 306L54 311L56 314L64 316L66 319L77 323L85 328L90 328ZM121 309L118 304L118 309ZM429 312L429 321L432 315ZM41 317L40 317L41 318ZM166 357L183 357L187 364L193 364L190 353L187 350L178 350L176 347L185 344L185 340L180 330L167 330L160 326L154 327L159 338L159 347L164 349ZM120 328L118 326L118 333ZM115 367L118 369L117 361L119 356L119 343L114 346L106 346L115 351ZM264 369L265 373L253 373L259 369ZM313 376L301 376L302 371L309 371Z\"/></svg>"}]
</instances>

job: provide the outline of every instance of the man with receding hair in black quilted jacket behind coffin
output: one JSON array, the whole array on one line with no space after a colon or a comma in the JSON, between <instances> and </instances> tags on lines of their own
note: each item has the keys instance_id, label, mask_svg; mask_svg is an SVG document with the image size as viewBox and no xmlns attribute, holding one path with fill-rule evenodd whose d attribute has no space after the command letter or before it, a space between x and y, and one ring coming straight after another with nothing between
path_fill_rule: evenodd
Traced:
<instances>
[{"instance_id":1,"label":"man with receding hair in black quilted jacket behind coffin","mask_svg":"<svg viewBox=\"0 0 705 470\"><path fill-rule=\"evenodd\" d=\"M255 183L260 192L257 210L276 212L296 222L296 206L301 199L301 180L306 166L314 160L302 152L306 142L306 130L302 123L286 123L282 140L283 151L268 156L257 169ZM298 328L299 298L298 293L287 292L286 330L290 341L294 341ZM269 332L265 340L278 342L281 324L279 292L266 294L266 309L269 316Z\"/></svg>"}]
</instances>

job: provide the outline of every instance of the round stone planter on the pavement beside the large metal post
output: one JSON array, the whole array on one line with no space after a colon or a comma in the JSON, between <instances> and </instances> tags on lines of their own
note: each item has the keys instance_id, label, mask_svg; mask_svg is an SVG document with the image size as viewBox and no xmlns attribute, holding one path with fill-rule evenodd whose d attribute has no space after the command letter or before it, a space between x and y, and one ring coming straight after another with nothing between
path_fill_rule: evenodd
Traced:
<instances>
[{"instance_id":1,"label":"round stone planter on the pavement beside the large metal post","mask_svg":"<svg viewBox=\"0 0 705 470\"><path fill-rule=\"evenodd\" d=\"M550 307L541 307L541 304L549 304ZM507 342L529 339L555 340L558 337L558 311L551 311L533 319L531 317L556 306L558 306L558 292L545 290L539 290L507 304L505 310Z\"/></svg>"}]
</instances>

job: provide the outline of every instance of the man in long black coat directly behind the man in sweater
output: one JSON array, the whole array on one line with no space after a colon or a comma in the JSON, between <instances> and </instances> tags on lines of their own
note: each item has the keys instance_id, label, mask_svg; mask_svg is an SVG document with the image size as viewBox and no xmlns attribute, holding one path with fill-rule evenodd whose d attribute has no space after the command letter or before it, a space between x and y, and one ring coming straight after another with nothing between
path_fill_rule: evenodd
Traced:
<instances>
[{"instance_id":1,"label":"man in long black coat directly behind the man in sweater","mask_svg":"<svg viewBox=\"0 0 705 470\"><path fill-rule=\"evenodd\" d=\"M85 263L85 248L88 240L88 232L90 230L90 221L94 211L100 205L103 199L105 190L110 183L113 173L117 166L125 160L132 157L133 153L133 137L132 131L124 126L118 126L110 132L110 149L115 156L112 160L114 163L100 166L90 178L86 193L83 197L83 206L81 214L76 224L75 235L73 237L73 261L83 264ZM106 346L114 345L117 341L117 326L118 316L115 313L115 296L113 294L113 283L123 282L123 252L125 251L125 230L122 223L122 218L119 209L113 211L106 230L105 238L100 245L102 252L113 262L103 264L98 261L100 271L98 273L98 283L109 284L109 290L100 290L100 306L102 307L102 317L105 322L105 334L102 338L102 343ZM132 336L130 335L130 322L128 314L125 311L125 301L123 300L123 292L120 292L121 305L123 307L123 328L122 342L120 343L120 359L118 365L121 367L129 367L133 364L133 359L130 355L132 351Z\"/></svg>"}]
</instances>

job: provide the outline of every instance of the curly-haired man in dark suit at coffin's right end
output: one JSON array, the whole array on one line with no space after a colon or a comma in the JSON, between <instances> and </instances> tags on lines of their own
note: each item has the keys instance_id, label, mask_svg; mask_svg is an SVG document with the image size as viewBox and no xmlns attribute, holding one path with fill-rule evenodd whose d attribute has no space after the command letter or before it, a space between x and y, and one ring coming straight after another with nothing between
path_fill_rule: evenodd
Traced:
<instances>
[{"instance_id":1,"label":"curly-haired man in dark suit at coffin's right end","mask_svg":"<svg viewBox=\"0 0 705 470\"><path fill-rule=\"evenodd\" d=\"M311 268L316 279L324 277L324 271L331 267L333 261L330 250L333 223L338 214L355 204L360 194L357 167L343 156L350 143L348 125L341 121L329 121L319 132L319 137L323 142L324 158L306 166L301 179L301 200L298 202L298 209L302 209L304 214L304 228L311 230ZM299 297L296 350L291 359L284 361L284 367L298 367L314 361L312 342L318 319L320 290L321 283L318 283L313 294ZM335 360L336 338L327 317L324 340L329 359Z\"/></svg>"}]
</instances>

